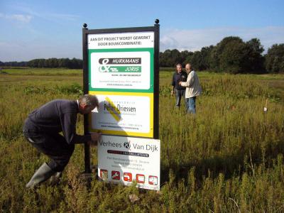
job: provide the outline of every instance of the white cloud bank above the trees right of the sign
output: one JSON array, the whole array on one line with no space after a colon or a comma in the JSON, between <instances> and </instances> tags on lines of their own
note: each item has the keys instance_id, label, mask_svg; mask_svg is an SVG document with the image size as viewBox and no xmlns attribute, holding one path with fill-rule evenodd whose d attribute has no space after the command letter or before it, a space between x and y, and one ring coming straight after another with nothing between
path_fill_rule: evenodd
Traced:
<instances>
[{"instance_id":1,"label":"white cloud bank above the trees right of the sign","mask_svg":"<svg viewBox=\"0 0 284 213\"><path fill-rule=\"evenodd\" d=\"M284 27L167 29L161 32L160 51L166 49L196 51L205 46L216 45L224 37L231 35L239 36L244 41L259 38L266 50L275 43L284 43Z\"/></svg>"}]
</instances>

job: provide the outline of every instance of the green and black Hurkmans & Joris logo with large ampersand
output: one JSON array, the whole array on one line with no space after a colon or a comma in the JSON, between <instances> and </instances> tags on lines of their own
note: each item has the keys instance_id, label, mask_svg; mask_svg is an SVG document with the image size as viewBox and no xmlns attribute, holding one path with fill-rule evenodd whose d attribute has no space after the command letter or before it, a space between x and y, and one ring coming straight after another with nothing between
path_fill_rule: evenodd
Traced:
<instances>
[{"instance_id":1,"label":"green and black Hurkmans & Joris logo with large ampersand","mask_svg":"<svg viewBox=\"0 0 284 213\"><path fill-rule=\"evenodd\" d=\"M99 72L141 72L141 58L100 58Z\"/></svg>"}]
</instances>

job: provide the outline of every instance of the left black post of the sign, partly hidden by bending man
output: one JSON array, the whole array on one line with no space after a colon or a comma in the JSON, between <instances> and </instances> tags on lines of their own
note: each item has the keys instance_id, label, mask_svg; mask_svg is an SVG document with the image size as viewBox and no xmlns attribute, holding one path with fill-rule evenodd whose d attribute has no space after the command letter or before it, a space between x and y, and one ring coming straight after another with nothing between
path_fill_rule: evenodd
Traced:
<instances>
[{"instance_id":1,"label":"left black post of the sign, partly hidden by bending man","mask_svg":"<svg viewBox=\"0 0 284 213\"><path fill-rule=\"evenodd\" d=\"M82 46L83 46L83 87L84 94L88 94L89 80L88 80L88 53L87 53L87 23L84 23L82 28ZM89 133L88 115L84 115L84 135ZM84 144L84 173L91 173L89 145Z\"/></svg>"}]
</instances>

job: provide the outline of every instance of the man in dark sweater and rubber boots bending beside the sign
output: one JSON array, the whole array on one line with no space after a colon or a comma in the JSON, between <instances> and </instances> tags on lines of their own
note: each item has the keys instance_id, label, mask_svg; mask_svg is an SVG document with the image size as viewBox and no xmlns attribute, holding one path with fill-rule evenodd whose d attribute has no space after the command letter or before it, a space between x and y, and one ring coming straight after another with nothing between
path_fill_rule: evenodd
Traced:
<instances>
[{"instance_id":1,"label":"man in dark sweater and rubber boots bending beside the sign","mask_svg":"<svg viewBox=\"0 0 284 213\"><path fill-rule=\"evenodd\" d=\"M76 101L53 100L28 115L23 135L38 151L48 155L50 162L38 168L26 187L33 188L51 176L58 178L70 160L75 143L97 144L100 134L77 135L76 123L78 113L89 114L98 106L96 96L85 94Z\"/></svg>"}]
</instances>

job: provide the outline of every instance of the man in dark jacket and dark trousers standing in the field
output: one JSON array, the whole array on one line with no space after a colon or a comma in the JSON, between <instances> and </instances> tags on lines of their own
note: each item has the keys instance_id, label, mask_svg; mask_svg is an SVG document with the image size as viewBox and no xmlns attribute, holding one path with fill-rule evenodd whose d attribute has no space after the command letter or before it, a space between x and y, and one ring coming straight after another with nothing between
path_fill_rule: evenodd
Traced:
<instances>
[{"instance_id":1,"label":"man in dark jacket and dark trousers standing in the field","mask_svg":"<svg viewBox=\"0 0 284 213\"><path fill-rule=\"evenodd\" d=\"M187 81L187 73L182 71L182 65L177 65L177 70L173 74L172 86L173 89L170 94L173 96L175 94L175 106L180 108L180 100L182 97L185 99L185 87L180 86L180 82Z\"/></svg>"}]
</instances>

